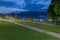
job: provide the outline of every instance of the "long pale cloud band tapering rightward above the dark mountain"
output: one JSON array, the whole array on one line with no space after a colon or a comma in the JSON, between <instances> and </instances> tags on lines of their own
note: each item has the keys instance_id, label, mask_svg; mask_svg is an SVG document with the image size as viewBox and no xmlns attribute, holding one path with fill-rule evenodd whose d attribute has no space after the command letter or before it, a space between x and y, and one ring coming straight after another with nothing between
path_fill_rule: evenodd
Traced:
<instances>
[{"instance_id":1,"label":"long pale cloud band tapering rightward above the dark mountain","mask_svg":"<svg viewBox=\"0 0 60 40\"><path fill-rule=\"evenodd\" d=\"M12 13L12 12L15 12L15 11L29 11L29 10L24 10L24 9L18 9L18 8L11 8L11 7L4 7L4 6L0 6L0 13L2 14L9 14L9 13Z\"/></svg>"}]
</instances>

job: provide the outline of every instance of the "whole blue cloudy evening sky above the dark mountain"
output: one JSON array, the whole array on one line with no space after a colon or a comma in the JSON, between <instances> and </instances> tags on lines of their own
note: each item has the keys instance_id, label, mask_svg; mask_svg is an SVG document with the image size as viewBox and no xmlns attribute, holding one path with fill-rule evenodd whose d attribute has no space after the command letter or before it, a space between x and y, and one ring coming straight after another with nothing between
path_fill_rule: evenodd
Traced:
<instances>
[{"instance_id":1,"label":"whole blue cloudy evening sky above the dark mountain","mask_svg":"<svg viewBox=\"0 0 60 40\"><path fill-rule=\"evenodd\" d=\"M0 0L0 13L13 11L47 10L51 0Z\"/></svg>"}]
</instances>

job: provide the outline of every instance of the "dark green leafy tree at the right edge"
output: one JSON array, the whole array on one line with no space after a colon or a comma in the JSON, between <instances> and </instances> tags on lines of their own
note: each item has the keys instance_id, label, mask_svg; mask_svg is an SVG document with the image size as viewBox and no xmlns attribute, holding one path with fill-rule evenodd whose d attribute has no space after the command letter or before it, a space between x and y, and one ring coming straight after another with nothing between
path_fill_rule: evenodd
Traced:
<instances>
[{"instance_id":1,"label":"dark green leafy tree at the right edge","mask_svg":"<svg viewBox=\"0 0 60 40\"><path fill-rule=\"evenodd\" d=\"M60 15L60 4L58 0L52 0L51 5L48 9L48 15L53 19L53 22L56 23L58 15Z\"/></svg>"}]
</instances>

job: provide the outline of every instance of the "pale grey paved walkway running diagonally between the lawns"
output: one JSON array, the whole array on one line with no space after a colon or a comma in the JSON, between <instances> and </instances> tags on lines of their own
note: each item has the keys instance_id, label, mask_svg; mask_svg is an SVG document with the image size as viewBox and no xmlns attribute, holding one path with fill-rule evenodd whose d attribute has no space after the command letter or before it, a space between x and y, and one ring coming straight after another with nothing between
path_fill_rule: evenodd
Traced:
<instances>
[{"instance_id":1,"label":"pale grey paved walkway running diagonally between the lawns","mask_svg":"<svg viewBox=\"0 0 60 40\"><path fill-rule=\"evenodd\" d=\"M8 20L5 20L5 21L8 21ZM10 21L8 21L8 22L10 22ZM20 26L23 26L25 28L29 28L29 29L32 29L32 30L35 30L35 31L38 31L38 32L41 32L41 33L44 33L44 34L47 34L47 35L50 35L50 36L53 36L53 37L56 37L56 38L60 39L60 34L58 34L58 33L50 32L50 31L43 30L43 29L36 28L36 27L32 27L32 26L27 26L27 25L24 25L24 24L19 24L19 23L14 23L14 24L20 25Z\"/></svg>"}]
</instances>

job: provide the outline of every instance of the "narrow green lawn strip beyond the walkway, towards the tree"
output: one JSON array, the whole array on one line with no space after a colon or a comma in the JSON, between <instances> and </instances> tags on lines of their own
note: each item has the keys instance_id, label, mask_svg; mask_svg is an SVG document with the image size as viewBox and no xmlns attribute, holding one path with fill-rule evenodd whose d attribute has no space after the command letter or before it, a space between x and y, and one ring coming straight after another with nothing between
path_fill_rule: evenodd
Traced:
<instances>
[{"instance_id":1,"label":"narrow green lawn strip beyond the walkway, towards the tree","mask_svg":"<svg viewBox=\"0 0 60 40\"><path fill-rule=\"evenodd\" d=\"M19 23L33 26L33 27L38 27L38 28L45 29L45 30L52 31L52 32L56 32L56 33L60 33L60 26L57 26L54 24L47 25L49 23L34 23L34 22L28 22L28 21L15 21L15 22L19 22Z\"/></svg>"}]
</instances>

